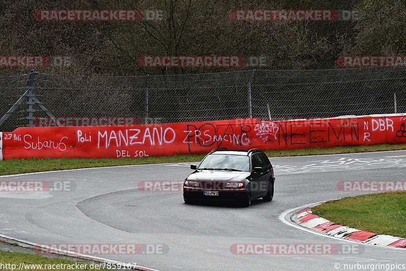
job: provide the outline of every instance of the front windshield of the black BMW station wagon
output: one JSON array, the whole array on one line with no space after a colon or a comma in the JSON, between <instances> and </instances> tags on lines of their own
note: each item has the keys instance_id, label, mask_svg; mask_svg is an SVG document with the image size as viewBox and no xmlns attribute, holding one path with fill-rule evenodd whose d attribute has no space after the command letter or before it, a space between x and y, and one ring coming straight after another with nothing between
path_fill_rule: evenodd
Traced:
<instances>
[{"instance_id":1,"label":"front windshield of the black BMW station wagon","mask_svg":"<svg viewBox=\"0 0 406 271\"><path fill-rule=\"evenodd\" d=\"M199 165L203 169L250 171L250 158L245 155L210 154Z\"/></svg>"}]
</instances>

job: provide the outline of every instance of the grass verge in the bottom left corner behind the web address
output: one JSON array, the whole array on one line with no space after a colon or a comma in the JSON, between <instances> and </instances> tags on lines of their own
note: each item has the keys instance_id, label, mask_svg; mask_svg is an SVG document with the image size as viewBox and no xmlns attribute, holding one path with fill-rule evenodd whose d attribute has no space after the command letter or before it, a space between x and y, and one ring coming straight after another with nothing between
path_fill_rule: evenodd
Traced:
<instances>
[{"instance_id":1,"label":"grass verge in the bottom left corner behind the web address","mask_svg":"<svg viewBox=\"0 0 406 271\"><path fill-rule=\"evenodd\" d=\"M3 266L2 266L3 264ZM8 264L8 265L6 265ZM100 268L93 267L94 264L99 263L90 263L90 262L75 262L66 259L59 258L47 258L40 255L33 255L28 253L21 252L8 252L0 250L0 270L18 270L22 265L20 270L100 270ZM64 265L62 265L64 264ZM76 268L78 264L79 268ZM91 266L93 264L93 266ZM59 266L58 266L59 265ZM69 267L68 267L69 265ZM82 265L82 266L80 266ZM59 267L59 268L58 268ZM64 267L64 268L63 268ZM70 268L74 267L74 268ZM85 268L82 268L85 267ZM93 267L93 268L91 268ZM103 269L101 269L103 270Z\"/></svg>"}]
</instances>

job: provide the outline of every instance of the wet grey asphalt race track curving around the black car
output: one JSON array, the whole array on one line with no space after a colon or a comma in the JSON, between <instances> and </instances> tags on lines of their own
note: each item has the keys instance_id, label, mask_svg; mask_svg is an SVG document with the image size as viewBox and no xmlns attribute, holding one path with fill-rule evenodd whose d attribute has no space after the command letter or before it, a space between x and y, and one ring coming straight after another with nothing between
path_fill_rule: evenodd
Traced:
<instances>
[{"instance_id":1,"label":"wet grey asphalt race track curving around the black car","mask_svg":"<svg viewBox=\"0 0 406 271\"><path fill-rule=\"evenodd\" d=\"M255 200L250 208L186 205L181 192L138 189L141 181L182 182L191 172L189 163L0 177L73 183L72 191L0 192L0 234L38 244L163 244L168 248L164 254L95 255L158 270L344 270L344 264L406 264L405 250L368 245L350 255L231 253L233 244L348 245L290 227L279 216L314 202L359 194L339 191L340 181L403 181L406 172L406 151L270 160L276 172L274 200Z\"/></svg>"}]
</instances>

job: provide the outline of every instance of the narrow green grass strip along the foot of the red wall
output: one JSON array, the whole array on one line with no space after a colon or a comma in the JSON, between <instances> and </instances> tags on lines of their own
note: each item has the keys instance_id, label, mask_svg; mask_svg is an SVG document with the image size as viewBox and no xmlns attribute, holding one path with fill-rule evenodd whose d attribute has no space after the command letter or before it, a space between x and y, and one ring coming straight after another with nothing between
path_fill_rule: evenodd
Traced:
<instances>
[{"instance_id":1,"label":"narrow green grass strip along the foot of the red wall","mask_svg":"<svg viewBox=\"0 0 406 271\"><path fill-rule=\"evenodd\" d=\"M384 144L375 146L266 151L266 154L269 157L280 157L280 156L320 155L320 154L338 154L338 153L389 151L389 150L406 150L406 144L399 145ZM119 158L119 159L116 158L10 159L0 161L0 175L57 171L57 170L72 170L74 168L114 166L114 165L192 162L192 161L200 161L204 156L205 154L189 154L189 155L142 157L142 158Z\"/></svg>"}]
</instances>

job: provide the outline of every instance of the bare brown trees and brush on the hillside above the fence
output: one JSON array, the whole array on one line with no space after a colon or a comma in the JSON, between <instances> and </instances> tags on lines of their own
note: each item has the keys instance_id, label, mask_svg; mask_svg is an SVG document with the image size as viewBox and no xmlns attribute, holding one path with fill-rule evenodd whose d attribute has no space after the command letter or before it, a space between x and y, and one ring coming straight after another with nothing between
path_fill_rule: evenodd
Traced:
<instances>
[{"instance_id":1,"label":"bare brown trees and brush on the hillside above the fence","mask_svg":"<svg viewBox=\"0 0 406 271\"><path fill-rule=\"evenodd\" d=\"M152 10L162 20L42 21L38 10ZM348 21L238 21L232 10L353 10ZM227 71L227 68L141 67L144 55L262 56L255 69L331 69L342 55L404 55L406 8L401 0L350 1L3 1L0 3L2 55L44 55L44 73L145 75ZM55 65L54 59L70 63ZM252 67L248 67L252 69ZM247 69L247 67L232 68ZM2 67L1 74L27 67Z\"/></svg>"}]
</instances>

